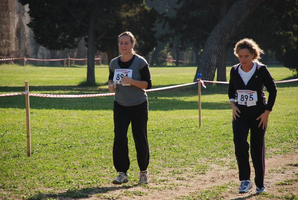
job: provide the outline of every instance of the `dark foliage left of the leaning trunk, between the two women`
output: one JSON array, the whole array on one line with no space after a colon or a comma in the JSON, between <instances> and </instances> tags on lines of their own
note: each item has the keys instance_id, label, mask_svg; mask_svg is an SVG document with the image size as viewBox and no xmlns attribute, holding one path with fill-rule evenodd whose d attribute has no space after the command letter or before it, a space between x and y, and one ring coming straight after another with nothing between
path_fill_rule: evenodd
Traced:
<instances>
[{"instance_id":1,"label":"dark foliage left of the leaning trunk, between the two women","mask_svg":"<svg viewBox=\"0 0 298 200\"><path fill-rule=\"evenodd\" d=\"M229 8L235 0L226 2L219 0L178 0L180 7L176 15L169 18L170 28L175 36L180 37L181 46L187 43L202 49L209 34L219 23L220 10ZM208 23L206 23L208 22Z\"/></svg>"}]
</instances>

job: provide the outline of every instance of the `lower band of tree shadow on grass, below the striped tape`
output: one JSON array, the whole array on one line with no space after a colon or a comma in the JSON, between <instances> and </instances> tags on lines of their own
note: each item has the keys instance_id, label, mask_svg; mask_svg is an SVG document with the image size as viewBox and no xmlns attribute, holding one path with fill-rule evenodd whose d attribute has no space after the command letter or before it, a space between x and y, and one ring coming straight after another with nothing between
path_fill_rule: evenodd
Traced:
<instances>
[{"instance_id":1,"label":"lower band of tree shadow on grass, below the striped tape","mask_svg":"<svg viewBox=\"0 0 298 200\"><path fill-rule=\"evenodd\" d=\"M30 97L30 109L56 109L56 110L113 110L113 98L42 98ZM202 102L202 109L226 110L230 109L225 102ZM25 109L24 95L0 97L0 108ZM198 100L183 101L180 99L160 99L158 96L149 96L149 111L171 110L198 110ZM32 112L32 110L31 110Z\"/></svg>"}]
</instances>

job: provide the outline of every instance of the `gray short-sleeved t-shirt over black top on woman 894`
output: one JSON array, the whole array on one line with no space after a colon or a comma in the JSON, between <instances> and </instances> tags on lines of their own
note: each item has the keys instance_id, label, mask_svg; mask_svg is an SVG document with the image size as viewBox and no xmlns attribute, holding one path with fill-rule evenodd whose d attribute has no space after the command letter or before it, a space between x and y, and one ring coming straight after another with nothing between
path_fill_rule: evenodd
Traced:
<instances>
[{"instance_id":1,"label":"gray short-sleeved t-shirt over black top on woman 894","mask_svg":"<svg viewBox=\"0 0 298 200\"><path fill-rule=\"evenodd\" d=\"M118 65L120 57L121 56L114 58L110 63L110 69L113 72L115 72L115 69L120 69ZM140 70L146 65L148 65L147 61L143 57L135 54L132 65L128 67L128 69L132 69L132 78L142 80ZM123 86L122 84L117 84L114 100L122 106L136 106L147 100L147 94L144 89L134 85Z\"/></svg>"}]
</instances>

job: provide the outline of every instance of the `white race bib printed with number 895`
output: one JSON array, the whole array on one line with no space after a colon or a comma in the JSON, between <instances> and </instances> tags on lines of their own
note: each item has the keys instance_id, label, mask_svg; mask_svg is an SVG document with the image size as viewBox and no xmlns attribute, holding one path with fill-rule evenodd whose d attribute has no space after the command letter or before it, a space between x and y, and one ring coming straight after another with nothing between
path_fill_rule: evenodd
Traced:
<instances>
[{"instance_id":1,"label":"white race bib printed with number 895","mask_svg":"<svg viewBox=\"0 0 298 200\"><path fill-rule=\"evenodd\" d=\"M237 90L237 102L239 105L255 106L257 101L257 91Z\"/></svg>"}]
</instances>

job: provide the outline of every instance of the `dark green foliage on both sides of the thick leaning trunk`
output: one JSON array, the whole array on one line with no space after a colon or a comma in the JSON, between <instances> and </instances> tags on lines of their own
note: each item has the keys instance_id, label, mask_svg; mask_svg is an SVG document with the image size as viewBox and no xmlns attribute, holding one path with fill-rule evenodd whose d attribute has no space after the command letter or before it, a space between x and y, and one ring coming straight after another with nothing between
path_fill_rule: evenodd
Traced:
<instances>
[{"instance_id":1,"label":"dark green foliage on both sides of the thick leaning trunk","mask_svg":"<svg viewBox=\"0 0 298 200\"><path fill-rule=\"evenodd\" d=\"M180 7L176 15L168 19L171 28L171 33L168 34L179 37L181 49L203 49L210 33L236 2L237 0L178 0ZM265 52L274 52L276 59L285 67L297 70L297 7L298 0L264 0L231 35L231 39L226 41L227 47L233 48L239 39L252 38ZM241 16L236 17L240 20ZM224 42L219 41L217 45L221 46ZM205 46L204 51L206 49ZM205 63L202 65L207 66Z\"/></svg>"}]
</instances>

